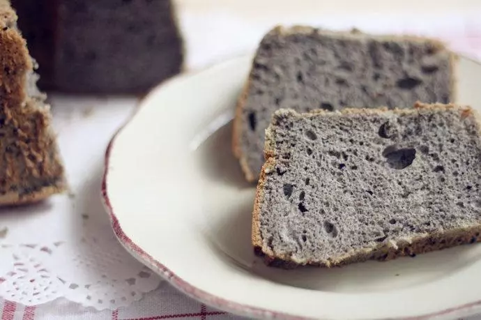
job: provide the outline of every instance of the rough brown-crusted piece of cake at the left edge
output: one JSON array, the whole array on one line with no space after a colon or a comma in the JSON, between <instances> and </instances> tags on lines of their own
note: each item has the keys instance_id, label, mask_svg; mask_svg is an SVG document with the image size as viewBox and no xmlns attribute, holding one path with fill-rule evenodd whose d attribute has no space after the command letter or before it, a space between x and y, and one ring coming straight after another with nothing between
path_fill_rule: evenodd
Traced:
<instances>
[{"instance_id":1,"label":"rough brown-crusted piece of cake at the left edge","mask_svg":"<svg viewBox=\"0 0 481 320\"><path fill-rule=\"evenodd\" d=\"M0 0L0 204L38 201L65 188L49 107L28 95L33 63L16 22Z\"/></svg>"}]
</instances>

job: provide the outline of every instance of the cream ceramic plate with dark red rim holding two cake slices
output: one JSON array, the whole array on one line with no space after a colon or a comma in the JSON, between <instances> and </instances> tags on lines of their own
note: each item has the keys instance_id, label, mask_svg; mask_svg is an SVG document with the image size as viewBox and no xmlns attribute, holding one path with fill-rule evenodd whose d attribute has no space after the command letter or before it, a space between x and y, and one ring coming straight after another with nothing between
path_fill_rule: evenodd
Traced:
<instances>
[{"instance_id":1,"label":"cream ceramic plate with dark red rim holding two cake slices","mask_svg":"<svg viewBox=\"0 0 481 320\"><path fill-rule=\"evenodd\" d=\"M221 310L279 319L453 318L481 311L481 245L380 263L284 271L254 257L254 187L231 154L250 57L153 90L107 151L103 196L127 250ZM458 102L481 107L481 66L461 59Z\"/></svg>"}]
</instances>

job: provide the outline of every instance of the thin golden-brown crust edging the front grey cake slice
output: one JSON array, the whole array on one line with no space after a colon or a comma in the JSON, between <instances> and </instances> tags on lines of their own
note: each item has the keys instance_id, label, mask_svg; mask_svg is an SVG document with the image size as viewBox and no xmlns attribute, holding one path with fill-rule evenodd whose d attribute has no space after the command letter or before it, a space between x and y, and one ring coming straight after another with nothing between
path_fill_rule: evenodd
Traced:
<instances>
[{"instance_id":1,"label":"thin golden-brown crust edging the front grey cake slice","mask_svg":"<svg viewBox=\"0 0 481 320\"><path fill-rule=\"evenodd\" d=\"M446 110L446 109L458 109L461 116L475 117L476 121L481 128L481 118L480 114L475 112L471 107L461 107L454 104L442 105L442 104L425 104L422 102L416 102L413 109L392 109L379 108L379 109L343 109L340 111L341 114L379 114L383 112L393 112L395 114L410 114L418 112L418 109L436 109L436 110ZM290 112L286 110L280 110L279 112ZM297 112L295 112L298 114ZM313 110L307 114L298 114L298 116L316 116L318 114L328 114L325 110L318 109ZM480 130L481 134L481 130ZM252 212L252 245L254 247L254 252L264 257L266 264L270 266L277 266L281 268L296 268L300 266L295 261L291 261L290 257L287 256L277 256L268 245L264 245L262 241L261 231L260 231L260 220L259 214L261 211L261 204L264 198L264 185L266 184L267 175L273 172L275 169L275 137L269 127L266 130L266 144L264 147L264 155L266 157L266 162L261 170L261 176L259 178L259 183L257 185L256 197L254 200L254 210ZM307 261L307 265L312 266L323 266L323 267L333 267L333 266L344 266L346 264L352 264L354 262L361 262L367 260L379 260L387 261L390 259L395 259L402 256L415 256L416 254L422 254L425 252L431 252L434 250L442 250L448 247L454 247L456 245L466 244L466 243L478 243L481 242L481 225L471 225L460 227L459 229L453 229L448 231L438 231L432 234L424 234L416 236L414 238L406 239L406 241L397 241L395 245L391 243L380 243L375 247L365 247L360 250L347 252L346 254L335 257L334 259L329 259L323 261L322 263L314 263Z\"/></svg>"}]
</instances>

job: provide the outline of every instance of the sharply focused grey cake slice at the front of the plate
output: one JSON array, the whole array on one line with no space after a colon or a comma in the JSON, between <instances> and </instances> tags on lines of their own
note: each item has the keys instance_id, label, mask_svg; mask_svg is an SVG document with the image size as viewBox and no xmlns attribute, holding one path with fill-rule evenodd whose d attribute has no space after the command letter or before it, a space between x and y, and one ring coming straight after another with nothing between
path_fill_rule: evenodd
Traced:
<instances>
[{"instance_id":1,"label":"sharply focused grey cake slice at the front of the plate","mask_svg":"<svg viewBox=\"0 0 481 320\"><path fill-rule=\"evenodd\" d=\"M457 105L278 110L252 243L275 266L387 260L480 241L477 114Z\"/></svg>"}]
</instances>

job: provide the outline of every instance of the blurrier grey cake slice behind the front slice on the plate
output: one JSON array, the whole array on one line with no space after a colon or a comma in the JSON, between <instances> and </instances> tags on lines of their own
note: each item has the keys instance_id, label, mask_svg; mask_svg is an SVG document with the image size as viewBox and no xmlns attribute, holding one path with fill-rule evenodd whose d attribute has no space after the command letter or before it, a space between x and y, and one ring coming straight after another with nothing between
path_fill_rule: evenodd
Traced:
<instances>
[{"instance_id":1,"label":"blurrier grey cake slice behind the front slice on the plate","mask_svg":"<svg viewBox=\"0 0 481 320\"><path fill-rule=\"evenodd\" d=\"M234 120L234 153L247 180L259 176L264 130L276 109L453 102L454 60L442 43L427 38L273 29L257 49Z\"/></svg>"}]
</instances>

